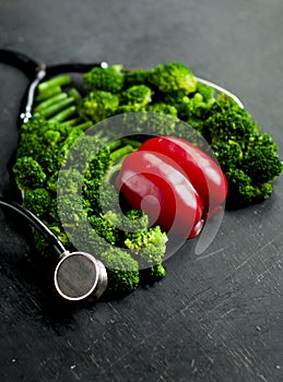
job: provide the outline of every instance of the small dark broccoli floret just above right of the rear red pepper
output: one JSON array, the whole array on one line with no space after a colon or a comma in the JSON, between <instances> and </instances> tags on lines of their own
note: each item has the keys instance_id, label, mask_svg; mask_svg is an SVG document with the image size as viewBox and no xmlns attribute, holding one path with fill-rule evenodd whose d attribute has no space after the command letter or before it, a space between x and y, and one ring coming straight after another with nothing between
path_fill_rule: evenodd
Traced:
<instances>
[{"instance_id":1,"label":"small dark broccoli floret just above right of the rear red pepper","mask_svg":"<svg viewBox=\"0 0 283 382\"><path fill-rule=\"evenodd\" d=\"M217 142L213 143L211 148L224 172L240 166L243 150L239 143L232 140L228 142Z\"/></svg>"}]
</instances>

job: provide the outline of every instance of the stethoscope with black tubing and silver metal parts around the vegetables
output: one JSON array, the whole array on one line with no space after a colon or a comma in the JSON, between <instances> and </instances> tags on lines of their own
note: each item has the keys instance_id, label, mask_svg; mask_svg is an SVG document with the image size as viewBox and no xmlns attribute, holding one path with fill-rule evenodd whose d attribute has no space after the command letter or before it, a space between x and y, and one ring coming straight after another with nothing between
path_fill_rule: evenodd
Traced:
<instances>
[{"instance_id":1,"label":"stethoscope with black tubing and silver metal parts around the vegetables","mask_svg":"<svg viewBox=\"0 0 283 382\"><path fill-rule=\"evenodd\" d=\"M45 63L36 62L24 53L7 49L0 49L0 62L20 69L30 80L20 107L19 127L32 117L36 88L40 81L68 72L84 73L94 67L107 68L106 62L61 63L47 67ZM227 89L200 77L197 77L197 81L228 95L244 108L239 98ZM101 261L86 252L69 252L51 230L22 205L2 198L0 199L0 205L24 217L31 226L43 235L57 253L58 264L54 273L54 284L62 298L69 301L95 301L104 294L107 288L107 271Z\"/></svg>"}]
</instances>

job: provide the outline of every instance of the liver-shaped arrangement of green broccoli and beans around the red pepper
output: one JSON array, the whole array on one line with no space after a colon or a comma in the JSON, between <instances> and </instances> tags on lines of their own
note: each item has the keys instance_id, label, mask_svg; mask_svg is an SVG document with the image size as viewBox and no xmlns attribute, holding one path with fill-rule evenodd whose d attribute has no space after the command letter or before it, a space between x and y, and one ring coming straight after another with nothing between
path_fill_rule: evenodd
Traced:
<instances>
[{"instance_id":1,"label":"liver-shaped arrangement of green broccoli and beans around the red pepper","mask_svg":"<svg viewBox=\"0 0 283 382\"><path fill-rule=\"evenodd\" d=\"M83 75L82 93L69 74L40 83L37 92L34 117L21 127L13 168L25 190L23 203L67 248L75 246L105 263L109 296L131 293L166 273L166 235L150 227L149 216L130 208L115 187L125 156L150 136L145 133L178 131L193 143L202 135L227 178L227 208L267 200L283 169L275 143L250 114L198 82L181 63L94 68ZM132 136L116 140L107 126L87 133L117 115L123 122L119 134L125 126ZM36 231L34 239L38 252L51 256Z\"/></svg>"}]
</instances>

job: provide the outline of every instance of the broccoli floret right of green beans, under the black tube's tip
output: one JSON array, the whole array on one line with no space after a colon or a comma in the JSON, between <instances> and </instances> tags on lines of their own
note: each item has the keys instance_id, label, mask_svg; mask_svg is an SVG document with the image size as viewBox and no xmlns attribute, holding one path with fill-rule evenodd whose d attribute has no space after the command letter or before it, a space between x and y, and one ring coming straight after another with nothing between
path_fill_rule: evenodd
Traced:
<instances>
[{"instance_id":1,"label":"broccoli floret right of green beans, under the black tube's tip","mask_svg":"<svg viewBox=\"0 0 283 382\"><path fill-rule=\"evenodd\" d=\"M90 91L105 91L117 93L123 86L122 65L109 68L93 68L83 75L83 85Z\"/></svg>"}]
</instances>

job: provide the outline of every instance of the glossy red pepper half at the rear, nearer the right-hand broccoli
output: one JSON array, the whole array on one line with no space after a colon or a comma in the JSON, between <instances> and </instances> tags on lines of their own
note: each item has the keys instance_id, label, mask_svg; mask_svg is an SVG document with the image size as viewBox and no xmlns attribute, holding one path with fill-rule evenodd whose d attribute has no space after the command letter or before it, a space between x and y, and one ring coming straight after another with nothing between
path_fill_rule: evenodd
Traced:
<instances>
[{"instance_id":1,"label":"glossy red pepper half at the rear, nearer the right-hand broccoli","mask_svg":"<svg viewBox=\"0 0 283 382\"><path fill-rule=\"evenodd\" d=\"M227 181L221 167L204 151L186 140L172 136L150 139L139 150L161 153L185 171L202 200L204 218L223 208Z\"/></svg>"}]
</instances>

